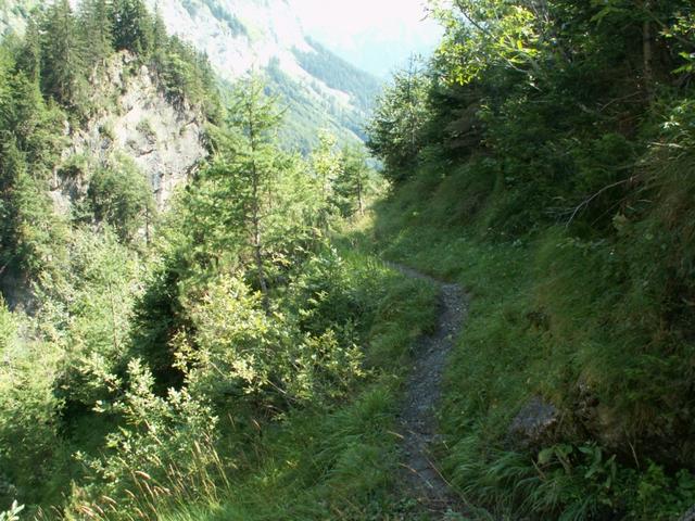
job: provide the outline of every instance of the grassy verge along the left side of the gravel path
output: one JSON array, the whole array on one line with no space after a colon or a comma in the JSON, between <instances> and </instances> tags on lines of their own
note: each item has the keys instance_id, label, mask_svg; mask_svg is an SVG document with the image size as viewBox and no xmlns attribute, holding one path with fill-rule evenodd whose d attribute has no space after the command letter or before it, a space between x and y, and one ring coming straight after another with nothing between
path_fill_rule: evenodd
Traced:
<instances>
[{"instance_id":1,"label":"grassy verge along the left side of the gravel path","mask_svg":"<svg viewBox=\"0 0 695 521\"><path fill-rule=\"evenodd\" d=\"M416 519L397 490L396 414L410 346L435 323L437 290L404 278L350 241L341 250L355 287L372 288L375 314L365 346L369 374L352 401L331 410L294 411L249 441L228 490L168 521Z\"/></svg>"}]
</instances>

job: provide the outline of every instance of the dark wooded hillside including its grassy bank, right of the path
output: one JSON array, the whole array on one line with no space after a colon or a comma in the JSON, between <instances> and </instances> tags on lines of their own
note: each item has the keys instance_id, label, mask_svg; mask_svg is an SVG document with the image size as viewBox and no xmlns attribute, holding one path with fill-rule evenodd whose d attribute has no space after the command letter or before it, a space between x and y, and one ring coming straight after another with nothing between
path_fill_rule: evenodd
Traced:
<instances>
[{"instance_id":1,"label":"dark wooded hillside including its grassy bank, right of the path","mask_svg":"<svg viewBox=\"0 0 695 521\"><path fill-rule=\"evenodd\" d=\"M443 41L369 145L391 254L473 290L448 475L500 512L674 519L695 500L692 2L432 8ZM560 423L510 450L533 396Z\"/></svg>"}]
</instances>

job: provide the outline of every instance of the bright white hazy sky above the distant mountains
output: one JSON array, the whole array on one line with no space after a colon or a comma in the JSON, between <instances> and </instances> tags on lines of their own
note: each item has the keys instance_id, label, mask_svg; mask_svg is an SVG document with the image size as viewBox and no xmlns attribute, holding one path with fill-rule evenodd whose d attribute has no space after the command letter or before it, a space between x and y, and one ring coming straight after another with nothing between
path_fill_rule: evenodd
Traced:
<instances>
[{"instance_id":1,"label":"bright white hazy sky above the distant mountains","mask_svg":"<svg viewBox=\"0 0 695 521\"><path fill-rule=\"evenodd\" d=\"M441 29L426 0L293 0L306 33L381 77L414 52L429 53Z\"/></svg>"}]
</instances>

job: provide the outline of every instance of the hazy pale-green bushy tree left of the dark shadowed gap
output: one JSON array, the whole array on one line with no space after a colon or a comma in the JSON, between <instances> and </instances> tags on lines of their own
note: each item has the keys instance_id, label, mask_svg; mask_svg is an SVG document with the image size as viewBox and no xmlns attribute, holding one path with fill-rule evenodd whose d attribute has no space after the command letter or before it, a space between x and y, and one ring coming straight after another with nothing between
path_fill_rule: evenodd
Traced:
<instances>
[{"instance_id":1,"label":"hazy pale-green bushy tree left of the dark shadowed gap","mask_svg":"<svg viewBox=\"0 0 695 521\"><path fill-rule=\"evenodd\" d=\"M132 308L140 294L142 267L137 255L109 229L77 229L60 284L45 296L45 317L59 325L65 356L56 394L91 407L104 387L94 371L125 368L130 347Z\"/></svg>"}]
</instances>

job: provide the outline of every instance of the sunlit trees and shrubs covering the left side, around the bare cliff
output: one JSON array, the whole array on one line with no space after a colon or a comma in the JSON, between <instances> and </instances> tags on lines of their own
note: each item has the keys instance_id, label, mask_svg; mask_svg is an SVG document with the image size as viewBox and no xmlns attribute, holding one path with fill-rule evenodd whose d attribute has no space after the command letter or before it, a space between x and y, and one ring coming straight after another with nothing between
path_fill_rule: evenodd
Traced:
<instances>
[{"instance_id":1,"label":"sunlit trees and shrubs covering the left side, around the bare cliff","mask_svg":"<svg viewBox=\"0 0 695 521\"><path fill-rule=\"evenodd\" d=\"M114 63L208 124L207 160L161 215L132 157L66 150L117 110L90 96ZM366 381L383 291L329 241L374 192L366 156L328 135L320 167L288 152L260 78L225 110L215 82L140 0L60 0L0 46L0 519L212 500L256 429Z\"/></svg>"}]
</instances>

